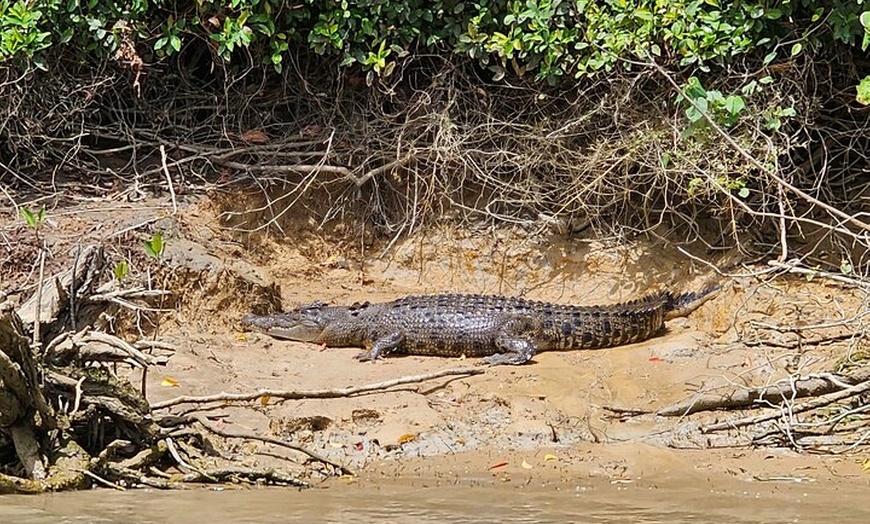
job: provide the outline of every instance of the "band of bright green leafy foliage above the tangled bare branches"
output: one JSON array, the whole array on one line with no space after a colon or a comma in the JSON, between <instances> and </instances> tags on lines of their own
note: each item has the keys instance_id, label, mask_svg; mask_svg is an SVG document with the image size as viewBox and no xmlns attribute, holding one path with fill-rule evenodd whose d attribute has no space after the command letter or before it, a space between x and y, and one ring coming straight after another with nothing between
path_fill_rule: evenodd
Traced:
<instances>
[{"instance_id":1,"label":"band of bright green leafy foliage above the tangled bare branches","mask_svg":"<svg viewBox=\"0 0 870 524\"><path fill-rule=\"evenodd\" d=\"M471 58L494 78L560 81L656 60L707 70L768 50L797 56L825 40L870 46L863 0L0 0L0 61L40 63L50 46L146 61L195 40L232 62L278 70L307 46L388 77L409 53ZM822 30L819 30L821 26ZM246 53L238 53L246 49ZM709 102L709 101L708 101Z\"/></svg>"}]
</instances>

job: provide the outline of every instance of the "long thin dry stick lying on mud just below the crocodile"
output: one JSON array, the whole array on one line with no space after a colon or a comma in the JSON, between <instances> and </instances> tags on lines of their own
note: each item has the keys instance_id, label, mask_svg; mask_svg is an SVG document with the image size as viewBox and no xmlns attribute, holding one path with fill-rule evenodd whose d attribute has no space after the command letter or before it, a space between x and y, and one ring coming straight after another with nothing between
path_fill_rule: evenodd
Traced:
<instances>
[{"instance_id":1,"label":"long thin dry stick lying on mud just below the crocodile","mask_svg":"<svg viewBox=\"0 0 870 524\"><path fill-rule=\"evenodd\" d=\"M155 402L151 405L151 409L163 409L178 404L190 403L202 404L207 402L251 401L262 397L280 398L284 400L299 400L303 398L343 398L358 395L360 393L368 393L394 386L401 386L404 384L424 382L435 378L447 376L471 376L480 375L481 373L484 373L484 370L480 368L451 368L434 371L432 373L425 373L423 375L404 376L392 380L386 380L384 382L376 382L374 384L366 384L363 386L349 386L339 389L314 389L308 391L259 389L253 393L217 393L215 395L205 395L201 397L182 395L174 399L164 400L163 402Z\"/></svg>"}]
</instances>

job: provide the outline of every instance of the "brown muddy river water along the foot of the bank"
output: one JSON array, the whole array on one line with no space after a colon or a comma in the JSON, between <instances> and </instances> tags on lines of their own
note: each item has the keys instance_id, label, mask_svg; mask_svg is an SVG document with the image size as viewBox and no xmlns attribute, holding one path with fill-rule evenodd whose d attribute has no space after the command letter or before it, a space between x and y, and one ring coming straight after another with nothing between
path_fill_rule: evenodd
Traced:
<instances>
[{"instance_id":1,"label":"brown muddy river water along the foot of the bank","mask_svg":"<svg viewBox=\"0 0 870 524\"><path fill-rule=\"evenodd\" d=\"M107 490L0 497L0 522L870 522L866 487L796 483L661 486L566 482L557 486L388 484L295 489Z\"/></svg>"}]
</instances>

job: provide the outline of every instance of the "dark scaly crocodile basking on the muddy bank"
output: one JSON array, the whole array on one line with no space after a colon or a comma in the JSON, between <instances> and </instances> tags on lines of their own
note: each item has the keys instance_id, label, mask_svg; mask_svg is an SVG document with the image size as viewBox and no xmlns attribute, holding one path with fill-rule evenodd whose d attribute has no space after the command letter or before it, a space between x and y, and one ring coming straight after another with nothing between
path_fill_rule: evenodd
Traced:
<instances>
[{"instance_id":1,"label":"dark scaly crocodile basking on the muddy bank","mask_svg":"<svg viewBox=\"0 0 870 524\"><path fill-rule=\"evenodd\" d=\"M687 315L718 286L699 293L660 292L607 306L571 306L497 295L420 295L392 302L330 306L316 302L274 315L247 315L246 327L276 338L364 347L359 360L390 353L485 357L525 364L549 350L640 342L667 319Z\"/></svg>"}]
</instances>

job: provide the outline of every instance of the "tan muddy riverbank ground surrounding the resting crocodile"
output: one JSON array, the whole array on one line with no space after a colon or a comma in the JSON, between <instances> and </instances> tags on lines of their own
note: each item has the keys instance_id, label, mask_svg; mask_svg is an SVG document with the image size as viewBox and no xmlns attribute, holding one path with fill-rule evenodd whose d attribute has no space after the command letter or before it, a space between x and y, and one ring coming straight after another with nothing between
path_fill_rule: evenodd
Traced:
<instances>
[{"instance_id":1,"label":"tan muddy riverbank ground surrounding the resting crocodile","mask_svg":"<svg viewBox=\"0 0 870 524\"><path fill-rule=\"evenodd\" d=\"M604 304L664 288L696 290L715 275L673 246L649 239L566 238L534 226L465 224L391 241L374 239L352 223L319 228L304 217L285 218L281 230L251 231L222 214L227 202L192 198L177 213L165 201L75 202L50 209L41 227L51 251L46 271L68 264L77 245L101 243L113 261L131 262L129 278L150 277L176 293L159 322L142 317L119 325L128 333L156 331L177 348L168 365L145 378L152 403L260 388L341 388L475 364L414 356L360 363L354 349L244 333L238 321L252 310L434 292ZM37 240L13 213L2 220L0 292L26 294L35 281ZM142 240L154 231L167 238L156 271L141 253ZM832 454L823 446L719 448L715 435L674 431L681 419L654 414L699 391L836 369L868 349L866 338L840 322L863 311L866 297L859 290L823 279L756 278L752 273L764 266L735 268L733 253L686 247L738 275L720 278L718 296L669 322L667 332L652 340L543 353L526 366L486 368L473 377L389 392L224 403L210 412L223 415L216 419L221 427L286 439L364 478L551 483L583 476L613 482L727 476L870 483L860 454ZM829 327L801 336L777 329L814 324ZM131 378L141 382L139 374ZM625 414L631 411L647 413ZM691 420L722 416L713 412ZM243 465L298 460L270 444L217 445Z\"/></svg>"}]
</instances>

